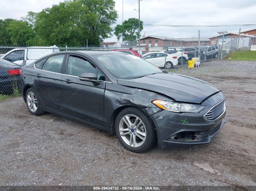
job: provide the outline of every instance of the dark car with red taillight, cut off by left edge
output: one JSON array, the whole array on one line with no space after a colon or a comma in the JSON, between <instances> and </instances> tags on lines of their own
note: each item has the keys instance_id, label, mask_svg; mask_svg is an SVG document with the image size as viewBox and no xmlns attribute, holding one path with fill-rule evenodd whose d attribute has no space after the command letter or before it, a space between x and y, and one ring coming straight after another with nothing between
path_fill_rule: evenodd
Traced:
<instances>
[{"instance_id":1,"label":"dark car with red taillight, cut off by left edge","mask_svg":"<svg viewBox=\"0 0 256 191\"><path fill-rule=\"evenodd\" d=\"M0 59L0 94L12 94L19 89L20 65Z\"/></svg>"}]
</instances>

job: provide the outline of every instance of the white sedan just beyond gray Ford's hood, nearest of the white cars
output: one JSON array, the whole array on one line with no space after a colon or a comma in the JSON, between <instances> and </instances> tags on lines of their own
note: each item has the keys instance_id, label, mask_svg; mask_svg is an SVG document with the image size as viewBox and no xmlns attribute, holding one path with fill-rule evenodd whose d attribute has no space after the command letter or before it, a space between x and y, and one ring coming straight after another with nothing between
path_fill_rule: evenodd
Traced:
<instances>
[{"instance_id":1,"label":"white sedan just beyond gray Ford's hood, nearest of the white cars","mask_svg":"<svg viewBox=\"0 0 256 191\"><path fill-rule=\"evenodd\" d=\"M161 52L149 52L143 54L142 58L159 68L170 69L178 64L177 56Z\"/></svg>"}]
</instances>

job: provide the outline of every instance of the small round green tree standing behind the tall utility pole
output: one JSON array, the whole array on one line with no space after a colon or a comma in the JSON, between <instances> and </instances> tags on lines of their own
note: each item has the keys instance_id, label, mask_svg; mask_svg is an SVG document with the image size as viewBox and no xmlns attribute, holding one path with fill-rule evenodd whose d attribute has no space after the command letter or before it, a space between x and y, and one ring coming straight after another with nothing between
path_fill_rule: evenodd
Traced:
<instances>
[{"instance_id":1,"label":"small round green tree standing behind the tall utility pole","mask_svg":"<svg viewBox=\"0 0 256 191\"><path fill-rule=\"evenodd\" d=\"M140 21L140 31L143 30L143 22ZM131 42L138 39L139 20L137 18L129 18L125 20L123 24L118 24L115 27L114 34L117 36L117 40L123 37L123 41Z\"/></svg>"}]
</instances>

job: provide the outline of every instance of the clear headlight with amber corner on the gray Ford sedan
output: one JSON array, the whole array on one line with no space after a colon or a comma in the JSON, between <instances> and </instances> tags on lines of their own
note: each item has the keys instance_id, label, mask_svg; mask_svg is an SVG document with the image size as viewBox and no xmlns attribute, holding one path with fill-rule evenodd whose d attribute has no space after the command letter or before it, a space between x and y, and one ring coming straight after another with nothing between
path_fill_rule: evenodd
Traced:
<instances>
[{"instance_id":1,"label":"clear headlight with amber corner on the gray Ford sedan","mask_svg":"<svg viewBox=\"0 0 256 191\"><path fill-rule=\"evenodd\" d=\"M181 102L165 101L165 100L153 100L153 104L157 107L172 112L186 112L186 113L198 113L204 109L204 106L196 104L188 104Z\"/></svg>"}]
</instances>

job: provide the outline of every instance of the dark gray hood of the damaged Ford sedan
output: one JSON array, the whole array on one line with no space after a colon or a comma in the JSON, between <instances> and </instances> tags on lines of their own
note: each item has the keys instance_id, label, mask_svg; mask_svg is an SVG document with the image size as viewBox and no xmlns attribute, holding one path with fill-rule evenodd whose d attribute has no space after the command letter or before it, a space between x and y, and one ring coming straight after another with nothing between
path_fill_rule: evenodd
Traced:
<instances>
[{"instance_id":1,"label":"dark gray hood of the damaged Ford sedan","mask_svg":"<svg viewBox=\"0 0 256 191\"><path fill-rule=\"evenodd\" d=\"M118 79L119 85L158 92L180 102L201 103L220 91L215 86L185 75L157 73L131 80Z\"/></svg>"}]
</instances>

